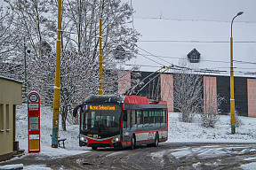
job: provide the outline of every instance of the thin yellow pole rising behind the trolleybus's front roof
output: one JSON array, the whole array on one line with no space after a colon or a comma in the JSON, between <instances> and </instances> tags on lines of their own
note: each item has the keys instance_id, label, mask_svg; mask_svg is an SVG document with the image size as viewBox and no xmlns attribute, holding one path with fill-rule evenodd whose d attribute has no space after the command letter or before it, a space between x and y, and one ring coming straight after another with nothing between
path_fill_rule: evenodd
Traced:
<instances>
[{"instance_id":1,"label":"thin yellow pole rising behind the trolleybus's front roof","mask_svg":"<svg viewBox=\"0 0 256 170\"><path fill-rule=\"evenodd\" d=\"M102 19L100 19L100 55L99 55L99 73L100 73L100 80L99 80L98 95L102 95Z\"/></svg>"}]
</instances>

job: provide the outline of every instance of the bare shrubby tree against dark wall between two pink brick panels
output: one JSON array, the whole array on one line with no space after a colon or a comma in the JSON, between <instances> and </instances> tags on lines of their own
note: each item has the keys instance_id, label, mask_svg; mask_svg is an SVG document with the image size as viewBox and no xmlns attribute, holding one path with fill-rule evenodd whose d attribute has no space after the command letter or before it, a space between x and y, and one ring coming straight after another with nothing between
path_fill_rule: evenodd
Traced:
<instances>
[{"instance_id":1,"label":"bare shrubby tree against dark wall between two pink brick panels","mask_svg":"<svg viewBox=\"0 0 256 170\"><path fill-rule=\"evenodd\" d=\"M191 122L202 109L203 102L202 75L193 72L188 64L180 63L178 73L173 75L173 104L180 112L180 120Z\"/></svg>"}]
</instances>

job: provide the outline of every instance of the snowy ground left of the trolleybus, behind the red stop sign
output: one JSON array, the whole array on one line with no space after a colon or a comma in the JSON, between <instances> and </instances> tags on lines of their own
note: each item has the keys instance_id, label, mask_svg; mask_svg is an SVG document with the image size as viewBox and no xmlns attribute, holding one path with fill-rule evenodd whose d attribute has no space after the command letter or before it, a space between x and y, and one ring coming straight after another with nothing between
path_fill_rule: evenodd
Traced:
<instances>
[{"instance_id":1,"label":"snowy ground left of the trolleybus, behind the red stop sign","mask_svg":"<svg viewBox=\"0 0 256 170\"><path fill-rule=\"evenodd\" d=\"M27 104L17 106L16 115L16 141L19 141L20 149L25 150L28 154L28 109ZM67 138L65 141L65 149L52 148L52 108L48 106L41 106L40 112L40 153L39 155L46 155L52 157L65 157L84 153L91 148L79 147L79 130L78 125L67 124L67 131L59 129L60 138ZM35 154L35 153L34 153Z\"/></svg>"}]
</instances>

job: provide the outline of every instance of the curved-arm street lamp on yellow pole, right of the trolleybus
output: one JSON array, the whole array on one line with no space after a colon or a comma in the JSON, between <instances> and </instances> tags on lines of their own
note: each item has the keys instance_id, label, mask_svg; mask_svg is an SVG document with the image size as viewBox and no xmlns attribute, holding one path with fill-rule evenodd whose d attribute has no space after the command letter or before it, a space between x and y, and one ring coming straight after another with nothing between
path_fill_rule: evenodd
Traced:
<instances>
[{"instance_id":1,"label":"curved-arm street lamp on yellow pole, right of the trolleybus","mask_svg":"<svg viewBox=\"0 0 256 170\"><path fill-rule=\"evenodd\" d=\"M231 22L231 37L230 37L230 112L231 112L231 134L236 134L236 120L235 120L235 98L234 98L234 69L233 69L233 37L232 27L233 21L237 16L244 12L238 12Z\"/></svg>"}]
</instances>

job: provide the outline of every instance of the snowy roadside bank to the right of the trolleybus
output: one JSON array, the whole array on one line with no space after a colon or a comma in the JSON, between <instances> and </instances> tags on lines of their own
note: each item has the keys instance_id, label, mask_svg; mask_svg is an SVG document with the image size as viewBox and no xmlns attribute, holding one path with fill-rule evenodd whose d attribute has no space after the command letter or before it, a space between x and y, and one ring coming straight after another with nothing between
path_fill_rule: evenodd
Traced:
<instances>
[{"instance_id":1,"label":"snowy roadside bank to the right of the trolleybus","mask_svg":"<svg viewBox=\"0 0 256 170\"><path fill-rule=\"evenodd\" d=\"M230 118L221 115L215 128L204 128L200 122L180 122L179 113L169 112L168 143L255 143L256 118L240 117L243 125L236 128L236 134L231 135Z\"/></svg>"}]
</instances>

